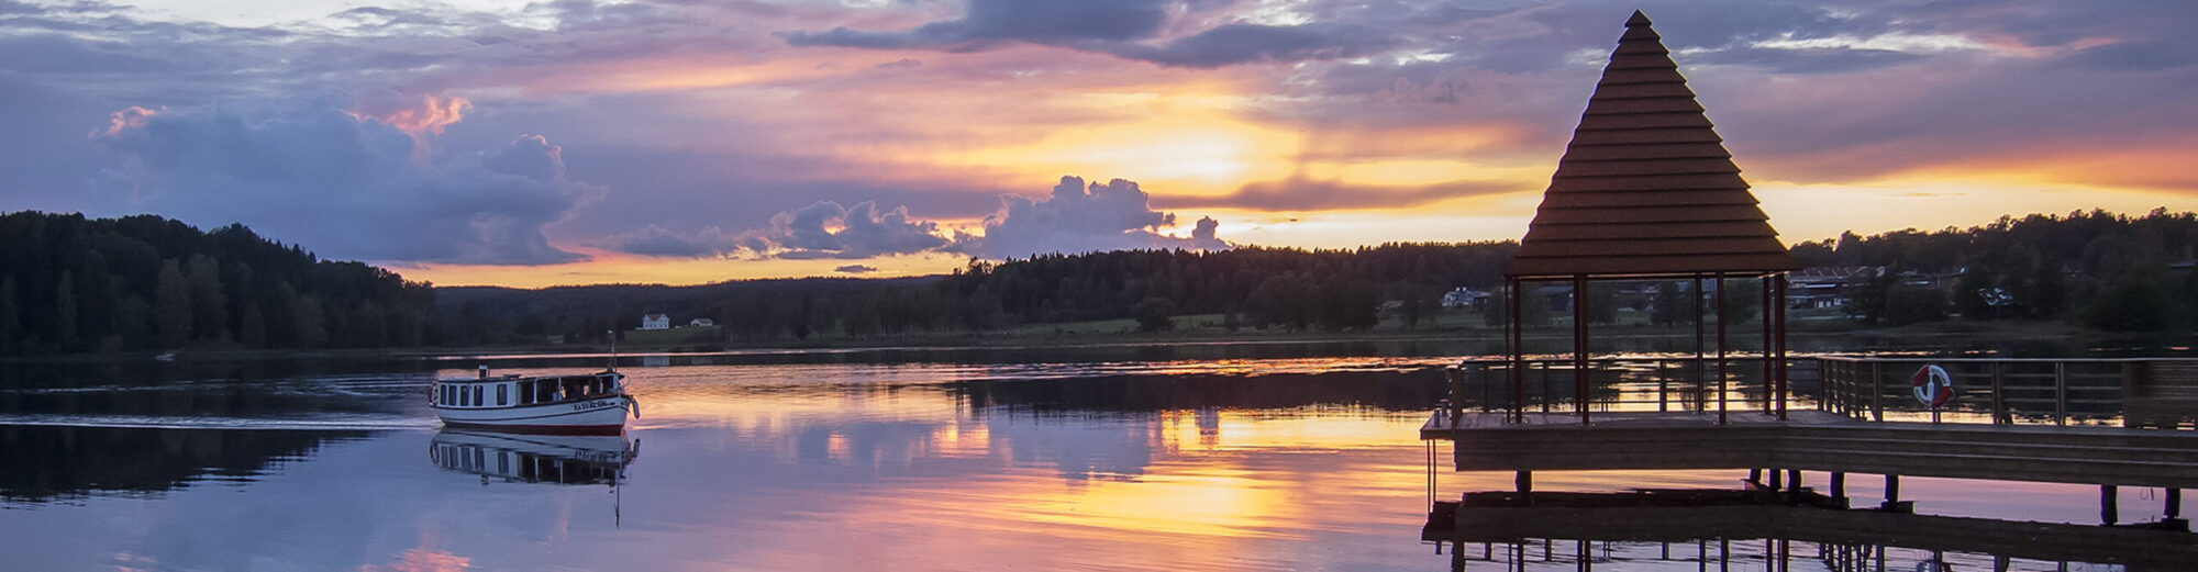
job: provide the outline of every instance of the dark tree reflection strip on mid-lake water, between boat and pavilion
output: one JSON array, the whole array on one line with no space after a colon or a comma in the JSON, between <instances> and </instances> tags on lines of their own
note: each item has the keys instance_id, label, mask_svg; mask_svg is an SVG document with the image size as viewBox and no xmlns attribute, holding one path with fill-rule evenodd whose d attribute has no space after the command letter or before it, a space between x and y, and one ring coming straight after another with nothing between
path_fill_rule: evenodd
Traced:
<instances>
[{"instance_id":1,"label":"dark tree reflection strip on mid-lake water, between boat and pavilion","mask_svg":"<svg viewBox=\"0 0 2198 572\"><path fill-rule=\"evenodd\" d=\"M1007 407L1029 411L1172 411L1172 409L1292 409L1314 405L1431 409L1444 396L1437 367L1407 372L1330 372L1268 376L1099 376L1062 381L956 383L956 398L972 411Z\"/></svg>"}]
</instances>

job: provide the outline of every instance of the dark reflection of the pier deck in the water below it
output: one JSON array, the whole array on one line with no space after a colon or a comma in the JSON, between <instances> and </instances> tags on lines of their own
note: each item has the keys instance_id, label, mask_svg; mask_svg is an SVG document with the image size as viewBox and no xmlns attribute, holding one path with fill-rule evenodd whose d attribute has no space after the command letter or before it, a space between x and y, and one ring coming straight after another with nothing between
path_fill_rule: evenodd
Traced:
<instances>
[{"instance_id":1,"label":"dark reflection of the pier deck in the water below it","mask_svg":"<svg viewBox=\"0 0 2198 572\"><path fill-rule=\"evenodd\" d=\"M1495 561L1497 548L1510 563L1543 559L1565 543L1664 543L1681 546L1681 561L1725 563L1732 559L1820 561L1829 570L1886 570L1886 548L1923 552L1987 554L1996 570L2009 570L2013 559L2051 563L2114 563L2125 570L2187 570L2198 561L2198 543L2189 532L2134 526L2077 526L2000 521L1972 517L1906 515L1890 510L1829 510L1811 504L1783 504L1769 497L1717 495L1706 491L1642 493L1541 493L1536 506L1514 506L1508 495L1466 495L1444 502L1422 530L1422 541L1448 543L1451 570L1479 568L1473 561ZM1657 502L1657 499L1668 502ZM1772 548L1736 557L1732 543L1765 541ZM1468 552L1479 543L1479 559ZM1796 550L1791 543L1809 543ZM1572 548L1572 546L1567 546ZM1723 548L1723 550L1721 550ZM1596 550L1563 550L1596 552ZM1692 552L1692 554L1686 554ZM1574 561L1580 570L1611 565L1609 559ZM1873 565L1875 563L1875 565ZM1717 565L1712 565L1717 570ZM1908 570L1906 565L1899 570Z\"/></svg>"}]
</instances>

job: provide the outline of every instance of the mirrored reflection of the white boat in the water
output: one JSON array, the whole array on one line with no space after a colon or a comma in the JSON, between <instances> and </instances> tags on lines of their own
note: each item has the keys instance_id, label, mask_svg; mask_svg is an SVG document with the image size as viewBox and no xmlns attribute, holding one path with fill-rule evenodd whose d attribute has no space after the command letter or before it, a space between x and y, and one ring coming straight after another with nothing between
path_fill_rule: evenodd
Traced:
<instances>
[{"instance_id":1,"label":"mirrored reflection of the white boat in the water","mask_svg":"<svg viewBox=\"0 0 2198 572\"><path fill-rule=\"evenodd\" d=\"M539 436L444 429L429 442L426 458L444 471L481 475L481 484L609 484L626 477L642 451L626 436Z\"/></svg>"}]
</instances>

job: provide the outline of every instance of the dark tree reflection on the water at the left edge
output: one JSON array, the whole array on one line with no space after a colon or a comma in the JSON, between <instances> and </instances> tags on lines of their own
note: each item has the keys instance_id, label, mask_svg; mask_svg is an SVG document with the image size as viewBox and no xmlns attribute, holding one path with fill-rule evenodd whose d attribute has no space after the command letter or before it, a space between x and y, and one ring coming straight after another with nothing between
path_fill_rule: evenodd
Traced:
<instances>
[{"instance_id":1,"label":"dark tree reflection on the water at the left edge","mask_svg":"<svg viewBox=\"0 0 2198 572\"><path fill-rule=\"evenodd\" d=\"M0 425L0 497L51 502L160 493L198 480L251 480L365 431L211 431Z\"/></svg>"}]
</instances>

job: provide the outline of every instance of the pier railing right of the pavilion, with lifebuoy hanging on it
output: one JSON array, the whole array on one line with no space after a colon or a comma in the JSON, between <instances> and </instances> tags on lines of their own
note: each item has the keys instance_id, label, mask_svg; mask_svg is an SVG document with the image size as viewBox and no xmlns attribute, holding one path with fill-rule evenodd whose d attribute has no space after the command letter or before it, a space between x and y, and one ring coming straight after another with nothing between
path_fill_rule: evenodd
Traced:
<instances>
[{"instance_id":1,"label":"pier railing right of the pavilion, with lifebuoy hanging on it","mask_svg":"<svg viewBox=\"0 0 2198 572\"><path fill-rule=\"evenodd\" d=\"M2110 425L2198 422L2198 359L1903 359L1818 356L1818 409L1860 420ZM1939 365L1954 398L1932 409L1917 372Z\"/></svg>"}]
</instances>

